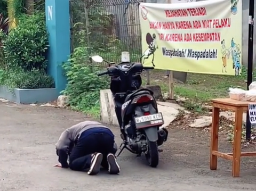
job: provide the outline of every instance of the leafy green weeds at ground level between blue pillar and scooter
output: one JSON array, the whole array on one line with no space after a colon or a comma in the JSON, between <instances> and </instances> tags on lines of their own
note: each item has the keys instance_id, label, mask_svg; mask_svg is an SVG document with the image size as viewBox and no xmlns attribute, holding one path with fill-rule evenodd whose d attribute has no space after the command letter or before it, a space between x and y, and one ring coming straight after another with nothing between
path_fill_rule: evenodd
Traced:
<instances>
[{"instance_id":1,"label":"leafy green weeds at ground level between blue pillar and scooter","mask_svg":"<svg viewBox=\"0 0 256 191\"><path fill-rule=\"evenodd\" d=\"M71 108L98 116L100 89L108 87L108 80L99 78L96 75L99 67L87 66L86 61L89 61L87 47L77 47L63 64L68 80L63 94L69 96Z\"/></svg>"}]
</instances>

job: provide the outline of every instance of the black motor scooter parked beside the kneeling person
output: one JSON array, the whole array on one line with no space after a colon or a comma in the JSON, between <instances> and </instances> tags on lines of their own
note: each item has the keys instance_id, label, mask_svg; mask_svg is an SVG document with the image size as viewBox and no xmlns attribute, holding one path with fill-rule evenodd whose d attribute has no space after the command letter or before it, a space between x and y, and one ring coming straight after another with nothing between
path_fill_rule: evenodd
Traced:
<instances>
[{"instance_id":1,"label":"black motor scooter parked beside the kneeling person","mask_svg":"<svg viewBox=\"0 0 256 191\"><path fill-rule=\"evenodd\" d=\"M101 56L92 56L91 59L95 62L104 61ZM118 65L109 64L107 71L98 73L98 76L108 74L111 77L110 90L113 93L115 112L123 139L117 156L124 148L138 156L145 153L150 167L157 167L158 146L166 141L168 131L159 128L164 124L164 119L162 113L158 112L153 92L140 89L140 74L143 70L151 69L154 67L122 62Z\"/></svg>"}]
</instances>

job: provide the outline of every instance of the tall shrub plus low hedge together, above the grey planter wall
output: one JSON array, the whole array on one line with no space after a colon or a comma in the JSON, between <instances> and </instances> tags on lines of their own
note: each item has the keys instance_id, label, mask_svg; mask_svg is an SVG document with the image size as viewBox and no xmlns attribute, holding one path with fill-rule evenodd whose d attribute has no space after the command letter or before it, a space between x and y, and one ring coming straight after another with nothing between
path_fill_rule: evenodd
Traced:
<instances>
[{"instance_id":1,"label":"tall shrub plus low hedge together, above the grey planter wall","mask_svg":"<svg viewBox=\"0 0 256 191\"><path fill-rule=\"evenodd\" d=\"M18 26L9 34L2 30L0 39L0 85L10 89L54 88L54 79L46 74L49 44L44 14L20 14Z\"/></svg>"}]
</instances>

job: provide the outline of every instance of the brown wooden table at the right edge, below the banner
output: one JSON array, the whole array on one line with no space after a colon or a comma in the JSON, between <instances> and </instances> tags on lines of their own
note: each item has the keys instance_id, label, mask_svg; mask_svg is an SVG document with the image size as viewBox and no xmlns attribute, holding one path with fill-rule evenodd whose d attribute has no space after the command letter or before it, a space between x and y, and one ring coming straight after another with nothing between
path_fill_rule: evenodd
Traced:
<instances>
[{"instance_id":1,"label":"brown wooden table at the right edge, below the banner","mask_svg":"<svg viewBox=\"0 0 256 191\"><path fill-rule=\"evenodd\" d=\"M256 152L241 153L241 138L243 125L243 112L248 110L248 104L252 102L236 101L229 98L212 99L212 132L210 150L210 169L217 169L217 158L221 157L232 161L232 176L239 177L241 156L256 156ZM221 110L235 112L233 153L221 153L218 151L219 117Z\"/></svg>"}]
</instances>

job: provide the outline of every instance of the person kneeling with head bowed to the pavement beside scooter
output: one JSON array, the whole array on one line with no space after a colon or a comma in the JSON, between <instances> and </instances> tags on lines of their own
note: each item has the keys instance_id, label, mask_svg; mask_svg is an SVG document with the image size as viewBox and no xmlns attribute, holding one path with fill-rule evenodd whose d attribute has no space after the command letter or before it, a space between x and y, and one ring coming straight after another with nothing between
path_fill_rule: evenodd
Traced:
<instances>
[{"instance_id":1,"label":"person kneeling with head bowed to the pavement beside scooter","mask_svg":"<svg viewBox=\"0 0 256 191\"><path fill-rule=\"evenodd\" d=\"M97 121L84 121L66 129L55 146L60 162L55 167L88 170L88 175L97 175L101 166L110 174L120 172L114 155L117 151L114 134Z\"/></svg>"}]
</instances>

